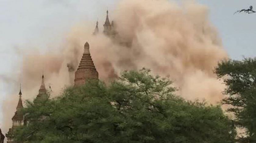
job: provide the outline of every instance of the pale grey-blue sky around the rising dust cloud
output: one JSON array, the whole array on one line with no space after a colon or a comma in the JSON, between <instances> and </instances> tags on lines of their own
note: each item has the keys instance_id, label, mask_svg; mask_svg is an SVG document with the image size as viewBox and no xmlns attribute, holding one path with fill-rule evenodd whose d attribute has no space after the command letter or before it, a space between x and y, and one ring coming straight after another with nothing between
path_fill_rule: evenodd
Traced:
<instances>
[{"instance_id":1,"label":"pale grey-blue sky around the rising dust cloud","mask_svg":"<svg viewBox=\"0 0 256 143\"><path fill-rule=\"evenodd\" d=\"M241 60L243 57L255 56L256 14L233 15L236 10L247 9L250 5L255 5L256 9L255 0L195 1L208 6L210 21L218 29L223 47L230 58ZM105 11L108 9L111 16L111 11L118 2L119 0L0 0L0 101L8 98L8 89L12 84L17 84L1 77L20 72L21 49L36 47L41 52L50 52L45 49L49 45L58 48L57 43L62 42L65 33L75 24L84 22L94 26L97 19L99 23L103 23Z\"/></svg>"}]
</instances>

